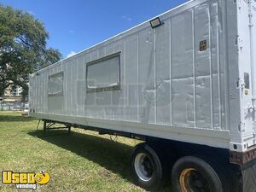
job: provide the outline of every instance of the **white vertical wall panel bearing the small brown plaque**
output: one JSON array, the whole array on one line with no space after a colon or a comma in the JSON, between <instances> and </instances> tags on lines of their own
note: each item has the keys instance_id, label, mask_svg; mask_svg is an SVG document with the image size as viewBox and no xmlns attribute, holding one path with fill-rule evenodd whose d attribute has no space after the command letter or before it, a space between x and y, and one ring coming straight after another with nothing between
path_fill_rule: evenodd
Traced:
<instances>
[{"instance_id":1,"label":"white vertical wall panel bearing the small brown plaque","mask_svg":"<svg viewBox=\"0 0 256 192\"><path fill-rule=\"evenodd\" d=\"M210 9L208 3L195 7L195 93L196 126L212 128L212 63L210 44ZM207 49L201 51L201 41Z\"/></svg>"}]
</instances>

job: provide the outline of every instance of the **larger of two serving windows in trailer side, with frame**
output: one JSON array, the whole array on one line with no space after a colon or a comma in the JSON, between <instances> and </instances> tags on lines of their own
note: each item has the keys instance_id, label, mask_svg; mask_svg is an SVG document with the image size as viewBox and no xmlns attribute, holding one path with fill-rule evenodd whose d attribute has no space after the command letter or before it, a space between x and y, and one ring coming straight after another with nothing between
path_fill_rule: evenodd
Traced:
<instances>
[{"instance_id":1,"label":"larger of two serving windows in trailer side, with frame","mask_svg":"<svg viewBox=\"0 0 256 192\"><path fill-rule=\"evenodd\" d=\"M86 72L89 92L120 89L120 52L88 62Z\"/></svg>"}]
</instances>

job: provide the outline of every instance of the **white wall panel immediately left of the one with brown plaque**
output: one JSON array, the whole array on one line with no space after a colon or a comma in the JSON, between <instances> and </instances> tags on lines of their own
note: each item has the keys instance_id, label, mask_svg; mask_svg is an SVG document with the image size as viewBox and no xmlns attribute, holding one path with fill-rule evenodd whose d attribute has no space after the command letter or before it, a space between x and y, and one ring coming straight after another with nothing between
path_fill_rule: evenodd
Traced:
<instances>
[{"instance_id":1,"label":"white wall panel immediately left of the one with brown plaque","mask_svg":"<svg viewBox=\"0 0 256 192\"><path fill-rule=\"evenodd\" d=\"M172 17L172 125L195 127L194 11Z\"/></svg>"}]
</instances>

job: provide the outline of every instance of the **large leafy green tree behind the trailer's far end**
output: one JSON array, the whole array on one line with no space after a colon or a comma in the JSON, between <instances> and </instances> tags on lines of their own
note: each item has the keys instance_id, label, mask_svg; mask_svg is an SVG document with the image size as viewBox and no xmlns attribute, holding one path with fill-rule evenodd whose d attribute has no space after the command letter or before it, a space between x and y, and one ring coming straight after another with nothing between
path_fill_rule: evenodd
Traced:
<instances>
[{"instance_id":1,"label":"large leafy green tree behind the trailer's far end","mask_svg":"<svg viewBox=\"0 0 256 192\"><path fill-rule=\"evenodd\" d=\"M32 15L0 4L0 96L11 85L28 92L28 76L61 59L57 49L46 48L44 25Z\"/></svg>"}]
</instances>

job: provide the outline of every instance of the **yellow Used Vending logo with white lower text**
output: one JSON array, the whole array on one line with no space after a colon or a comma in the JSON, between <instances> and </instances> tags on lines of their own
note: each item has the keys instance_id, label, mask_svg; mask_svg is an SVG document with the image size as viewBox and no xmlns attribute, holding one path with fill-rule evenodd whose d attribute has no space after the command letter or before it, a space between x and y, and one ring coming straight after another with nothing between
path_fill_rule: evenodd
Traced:
<instances>
[{"instance_id":1,"label":"yellow Used Vending logo with white lower text","mask_svg":"<svg viewBox=\"0 0 256 192\"><path fill-rule=\"evenodd\" d=\"M16 189L33 189L38 188L38 184L44 185L49 183L50 175L48 172L2 172L3 184L15 184Z\"/></svg>"}]
</instances>

